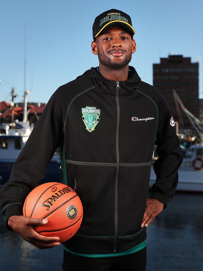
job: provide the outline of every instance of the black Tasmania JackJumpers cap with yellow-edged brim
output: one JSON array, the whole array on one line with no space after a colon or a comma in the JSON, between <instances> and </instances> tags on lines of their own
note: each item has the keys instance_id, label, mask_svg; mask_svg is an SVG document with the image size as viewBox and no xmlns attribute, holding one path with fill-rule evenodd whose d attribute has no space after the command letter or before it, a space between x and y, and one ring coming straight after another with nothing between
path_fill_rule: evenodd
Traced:
<instances>
[{"instance_id":1,"label":"black Tasmania JackJumpers cap with yellow-edged brim","mask_svg":"<svg viewBox=\"0 0 203 271\"><path fill-rule=\"evenodd\" d=\"M135 35L130 16L121 10L110 9L95 18L92 26L93 40L95 41L104 28L112 25L121 25L128 29L131 36Z\"/></svg>"}]
</instances>

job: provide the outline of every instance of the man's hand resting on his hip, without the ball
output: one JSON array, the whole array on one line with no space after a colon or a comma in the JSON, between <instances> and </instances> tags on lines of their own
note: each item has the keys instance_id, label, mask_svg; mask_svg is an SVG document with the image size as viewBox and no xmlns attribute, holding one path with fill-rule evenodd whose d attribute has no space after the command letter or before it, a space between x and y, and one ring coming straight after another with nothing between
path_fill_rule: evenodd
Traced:
<instances>
[{"instance_id":1,"label":"man's hand resting on his hip, without the ball","mask_svg":"<svg viewBox=\"0 0 203 271\"><path fill-rule=\"evenodd\" d=\"M164 204L156 198L147 198L144 217L141 227L147 227L157 214L161 213L164 208Z\"/></svg>"}]
</instances>

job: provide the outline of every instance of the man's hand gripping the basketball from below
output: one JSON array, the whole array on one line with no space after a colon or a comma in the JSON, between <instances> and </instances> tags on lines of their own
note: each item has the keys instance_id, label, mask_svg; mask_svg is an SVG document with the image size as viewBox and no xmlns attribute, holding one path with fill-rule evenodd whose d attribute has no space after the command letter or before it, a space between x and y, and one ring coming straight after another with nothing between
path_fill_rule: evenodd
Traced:
<instances>
[{"instance_id":1,"label":"man's hand gripping the basketball from below","mask_svg":"<svg viewBox=\"0 0 203 271\"><path fill-rule=\"evenodd\" d=\"M40 235L33 228L34 225L43 225L46 224L47 221L47 219L42 218L13 215L8 219L8 226L17 232L25 241L37 248L53 248L60 245L60 239L58 237L46 237Z\"/></svg>"}]
</instances>

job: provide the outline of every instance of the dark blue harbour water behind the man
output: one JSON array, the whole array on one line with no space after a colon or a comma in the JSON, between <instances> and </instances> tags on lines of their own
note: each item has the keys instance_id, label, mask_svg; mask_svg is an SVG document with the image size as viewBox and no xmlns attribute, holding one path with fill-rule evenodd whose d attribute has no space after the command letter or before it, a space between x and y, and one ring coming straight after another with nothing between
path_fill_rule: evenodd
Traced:
<instances>
[{"instance_id":1,"label":"dark blue harbour water behind the man","mask_svg":"<svg viewBox=\"0 0 203 271\"><path fill-rule=\"evenodd\" d=\"M5 228L0 216L3 271L62 270L62 245L38 249ZM203 271L203 195L176 193L147 227L146 271ZM96 270L95 270L96 271Z\"/></svg>"}]
</instances>

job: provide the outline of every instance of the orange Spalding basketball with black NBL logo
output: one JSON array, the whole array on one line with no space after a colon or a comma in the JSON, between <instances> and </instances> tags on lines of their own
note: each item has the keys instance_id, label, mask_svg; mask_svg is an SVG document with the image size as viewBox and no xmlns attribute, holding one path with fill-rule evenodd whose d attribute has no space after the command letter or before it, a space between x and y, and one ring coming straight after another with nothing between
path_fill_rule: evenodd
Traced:
<instances>
[{"instance_id":1,"label":"orange Spalding basketball with black NBL logo","mask_svg":"<svg viewBox=\"0 0 203 271\"><path fill-rule=\"evenodd\" d=\"M43 183L34 188L25 199L23 215L47 219L44 225L36 225L37 233L47 237L59 237L60 243L70 239L79 229L83 209L76 192L63 183Z\"/></svg>"}]
</instances>

